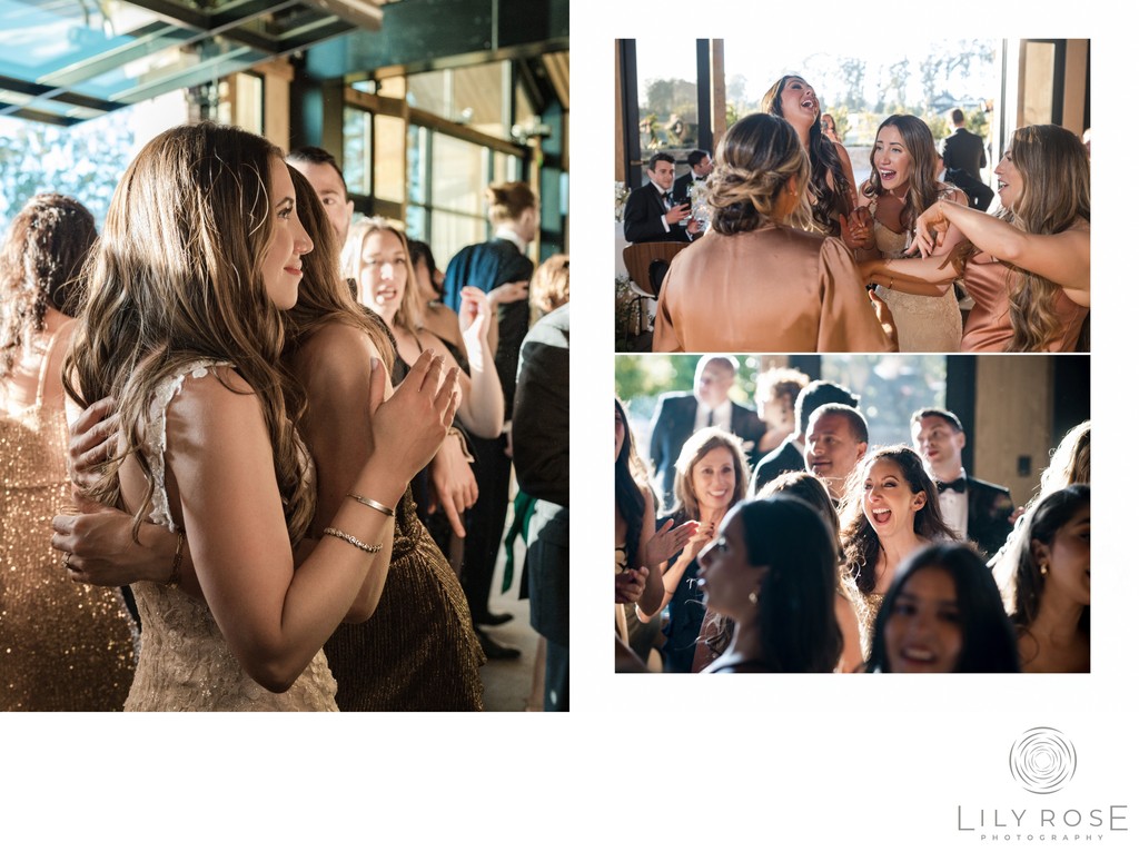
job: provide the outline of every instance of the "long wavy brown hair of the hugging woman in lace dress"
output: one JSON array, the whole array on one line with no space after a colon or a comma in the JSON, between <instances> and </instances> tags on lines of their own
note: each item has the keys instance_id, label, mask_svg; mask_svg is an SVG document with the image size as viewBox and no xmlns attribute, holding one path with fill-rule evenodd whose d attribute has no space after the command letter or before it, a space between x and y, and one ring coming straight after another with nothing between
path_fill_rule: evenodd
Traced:
<instances>
[{"instance_id":1,"label":"long wavy brown hair of the hugging woman in lace dress","mask_svg":"<svg viewBox=\"0 0 1139 852\"><path fill-rule=\"evenodd\" d=\"M285 320L261 271L274 228L274 157L284 161L280 149L237 128L174 128L144 146L110 200L64 384L84 408L118 401L125 449L92 497L117 505L118 468L134 456L148 482L136 534L155 488L142 451L148 408L159 382L200 359L232 363L261 403L294 542L312 517L294 426L304 395L280 369Z\"/></svg>"}]
</instances>

